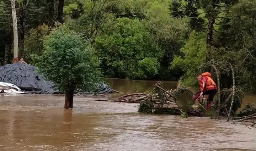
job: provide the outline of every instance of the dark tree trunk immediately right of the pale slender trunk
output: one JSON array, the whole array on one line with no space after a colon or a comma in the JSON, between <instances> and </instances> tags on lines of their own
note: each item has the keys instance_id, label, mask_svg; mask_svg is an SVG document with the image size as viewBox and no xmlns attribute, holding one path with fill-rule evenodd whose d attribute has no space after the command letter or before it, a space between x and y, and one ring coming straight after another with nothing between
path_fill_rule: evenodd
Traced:
<instances>
[{"instance_id":1,"label":"dark tree trunk immediately right of the pale slender trunk","mask_svg":"<svg viewBox=\"0 0 256 151\"><path fill-rule=\"evenodd\" d=\"M20 30L19 30L19 39L18 39L18 48L19 48L19 52L18 52L18 58L20 58L21 56L24 56L24 40L25 40L25 22L24 22L24 18L25 18L25 10L24 10L24 5L26 4L26 0L23 0L21 2L21 7L20 7Z\"/></svg>"}]
</instances>

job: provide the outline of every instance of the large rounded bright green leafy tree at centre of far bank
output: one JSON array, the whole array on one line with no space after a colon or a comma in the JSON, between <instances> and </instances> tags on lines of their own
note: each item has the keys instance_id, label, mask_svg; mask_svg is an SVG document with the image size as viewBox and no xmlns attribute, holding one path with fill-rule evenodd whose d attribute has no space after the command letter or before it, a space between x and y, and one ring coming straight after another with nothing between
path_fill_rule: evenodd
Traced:
<instances>
[{"instance_id":1,"label":"large rounded bright green leafy tree at centre of far bank","mask_svg":"<svg viewBox=\"0 0 256 151\"><path fill-rule=\"evenodd\" d=\"M162 51L138 19L118 18L105 24L95 48L103 72L111 77L134 79L146 73L150 77L157 73L157 61L162 57Z\"/></svg>"}]
</instances>

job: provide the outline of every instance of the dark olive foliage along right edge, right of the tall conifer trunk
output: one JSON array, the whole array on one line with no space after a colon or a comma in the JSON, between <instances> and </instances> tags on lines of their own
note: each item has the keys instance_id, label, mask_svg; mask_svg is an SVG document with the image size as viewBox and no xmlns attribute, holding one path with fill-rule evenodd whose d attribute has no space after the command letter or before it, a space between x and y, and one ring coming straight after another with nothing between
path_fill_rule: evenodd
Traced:
<instances>
[{"instance_id":1,"label":"dark olive foliage along right edge, right of the tall conifer trunk","mask_svg":"<svg viewBox=\"0 0 256 151\"><path fill-rule=\"evenodd\" d=\"M232 63L236 84L245 90L256 87L256 2L240 0L225 13L226 26L220 26L216 35L215 60ZM224 24L222 23L222 24ZM223 79L223 82L229 81ZM228 85L228 83L225 83Z\"/></svg>"}]
</instances>

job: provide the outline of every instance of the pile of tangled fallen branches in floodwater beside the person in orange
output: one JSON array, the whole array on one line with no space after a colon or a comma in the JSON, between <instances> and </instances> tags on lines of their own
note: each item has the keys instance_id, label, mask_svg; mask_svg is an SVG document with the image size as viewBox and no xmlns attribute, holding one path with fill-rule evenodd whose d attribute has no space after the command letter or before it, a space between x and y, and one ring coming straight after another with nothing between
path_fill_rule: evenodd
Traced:
<instances>
[{"instance_id":1,"label":"pile of tangled fallen branches in floodwater beside the person in orange","mask_svg":"<svg viewBox=\"0 0 256 151\"><path fill-rule=\"evenodd\" d=\"M148 93L127 94L116 99L108 98L97 101L140 103L139 112L149 114L175 114L186 117L187 115L202 116L202 110L194 110L191 103L177 104L177 96L183 93L194 95L193 92L179 82L177 88L166 91L162 82L153 85L153 90Z\"/></svg>"}]
</instances>

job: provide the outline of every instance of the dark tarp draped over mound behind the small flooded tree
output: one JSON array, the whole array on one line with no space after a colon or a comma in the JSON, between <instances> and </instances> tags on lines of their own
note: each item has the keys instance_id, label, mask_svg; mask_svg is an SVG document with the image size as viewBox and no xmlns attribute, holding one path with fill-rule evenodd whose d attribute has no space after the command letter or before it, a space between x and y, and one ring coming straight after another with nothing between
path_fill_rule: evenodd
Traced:
<instances>
[{"instance_id":1,"label":"dark tarp draped over mound behind the small flooded tree","mask_svg":"<svg viewBox=\"0 0 256 151\"><path fill-rule=\"evenodd\" d=\"M58 90L54 84L44 80L41 74L36 72L36 67L30 64L14 63L0 67L0 82L11 83L21 90L30 91L37 94L57 94ZM107 84L96 84L93 92L80 93L110 93L112 88Z\"/></svg>"}]
</instances>

